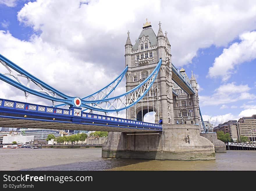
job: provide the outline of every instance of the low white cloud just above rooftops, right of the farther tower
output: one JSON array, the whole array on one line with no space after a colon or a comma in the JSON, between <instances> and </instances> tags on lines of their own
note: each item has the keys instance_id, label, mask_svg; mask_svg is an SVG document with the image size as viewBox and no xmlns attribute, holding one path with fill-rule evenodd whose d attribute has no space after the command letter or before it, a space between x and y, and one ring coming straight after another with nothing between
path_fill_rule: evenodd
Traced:
<instances>
[{"instance_id":1,"label":"low white cloud just above rooftops, right of the farther tower","mask_svg":"<svg viewBox=\"0 0 256 191\"><path fill-rule=\"evenodd\" d=\"M204 121L208 121L211 119L210 123L213 124L214 127L215 125L217 126L218 124L227 122L229 120L238 120L238 117L231 113L227 113L225 115L217 115L217 116L202 115L202 118Z\"/></svg>"}]
</instances>

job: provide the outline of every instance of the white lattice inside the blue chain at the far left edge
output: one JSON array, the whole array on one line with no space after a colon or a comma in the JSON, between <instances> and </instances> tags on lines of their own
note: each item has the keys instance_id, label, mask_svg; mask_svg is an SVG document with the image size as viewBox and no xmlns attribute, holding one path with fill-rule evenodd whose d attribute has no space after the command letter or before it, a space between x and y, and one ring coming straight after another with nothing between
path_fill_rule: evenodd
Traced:
<instances>
[{"instance_id":1,"label":"white lattice inside the blue chain at the far left edge","mask_svg":"<svg viewBox=\"0 0 256 191\"><path fill-rule=\"evenodd\" d=\"M15 78L15 80L17 80L17 82L19 82L20 84L22 84L22 85L24 85L28 88L30 88L30 83L32 81L36 86L38 86L39 89L33 89L33 88L30 88L30 89L35 90L37 92L45 93L45 94L47 94L49 96L52 96L52 97L56 97L56 94L54 92L52 92L51 90L47 90L46 88L42 87L42 85L40 85L39 83L31 80L29 77L25 76L24 74L19 74L15 70L12 70L10 67L8 67L6 65L6 63L4 61L0 60L0 62L8 70L8 73L4 73L3 75L12 76L13 78ZM22 78L26 78L26 80L27 80L26 84L24 84L22 82L22 80L21 80ZM30 93L28 93L28 92L24 92L24 93L25 93L25 98L27 100ZM55 105L55 102L52 101L52 104Z\"/></svg>"}]
</instances>

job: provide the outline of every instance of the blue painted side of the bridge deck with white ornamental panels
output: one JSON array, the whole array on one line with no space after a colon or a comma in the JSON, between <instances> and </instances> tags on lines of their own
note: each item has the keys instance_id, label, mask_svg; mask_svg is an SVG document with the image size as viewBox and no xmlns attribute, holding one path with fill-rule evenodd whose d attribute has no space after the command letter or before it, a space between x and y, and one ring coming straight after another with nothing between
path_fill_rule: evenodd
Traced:
<instances>
[{"instance_id":1,"label":"blue painted side of the bridge deck with white ornamental panels","mask_svg":"<svg viewBox=\"0 0 256 191\"><path fill-rule=\"evenodd\" d=\"M6 99L0 99L0 117L162 131L162 126L159 124L85 113L81 112L81 108L75 107L63 109Z\"/></svg>"}]
</instances>

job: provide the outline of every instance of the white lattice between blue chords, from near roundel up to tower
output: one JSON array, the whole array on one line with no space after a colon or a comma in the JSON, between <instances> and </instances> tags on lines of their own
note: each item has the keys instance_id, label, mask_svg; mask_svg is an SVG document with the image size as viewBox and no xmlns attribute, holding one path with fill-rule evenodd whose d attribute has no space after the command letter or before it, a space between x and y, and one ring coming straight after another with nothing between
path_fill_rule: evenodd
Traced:
<instances>
[{"instance_id":1,"label":"white lattice between blue chords, from near roundel up to tower","mask_svg":"<svg viewBox=\"0 0 256 191\"><path fill-rule=\"evenodd\" d=\"M94 108L107 109L107 110L120 110L121 108L128 107L137 103L143 96L150 90L150 87L154 83L154 79L158 70L154 72L154 74L144 82L138 89L135 89L128 94L124 94L121 97L115 99L109 99L108 101L103 101L99 103L91 103L91 106Z\"/></svg>"}]
</instances>

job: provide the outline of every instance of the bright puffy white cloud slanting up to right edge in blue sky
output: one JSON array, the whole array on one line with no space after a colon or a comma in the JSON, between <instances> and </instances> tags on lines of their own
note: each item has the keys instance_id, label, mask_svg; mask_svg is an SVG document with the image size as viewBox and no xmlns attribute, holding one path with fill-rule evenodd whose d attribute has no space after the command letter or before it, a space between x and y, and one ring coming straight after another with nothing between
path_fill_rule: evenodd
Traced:
<instances>
[{"instance_id":1,"label":"bright puffy white cloud slanting up to right edge in blue sky","mask_svg":"<svg viewBox=\"0 0 256 191\"><path fill-rule=\"evenodd\" d=\"M256 31L245 32L239 36L241 42L233 43L223 53L215 58L209 68L210 77L222 77L223 81L235 73L235 67L256 58Z\"/></svg>"}]
</instances>

